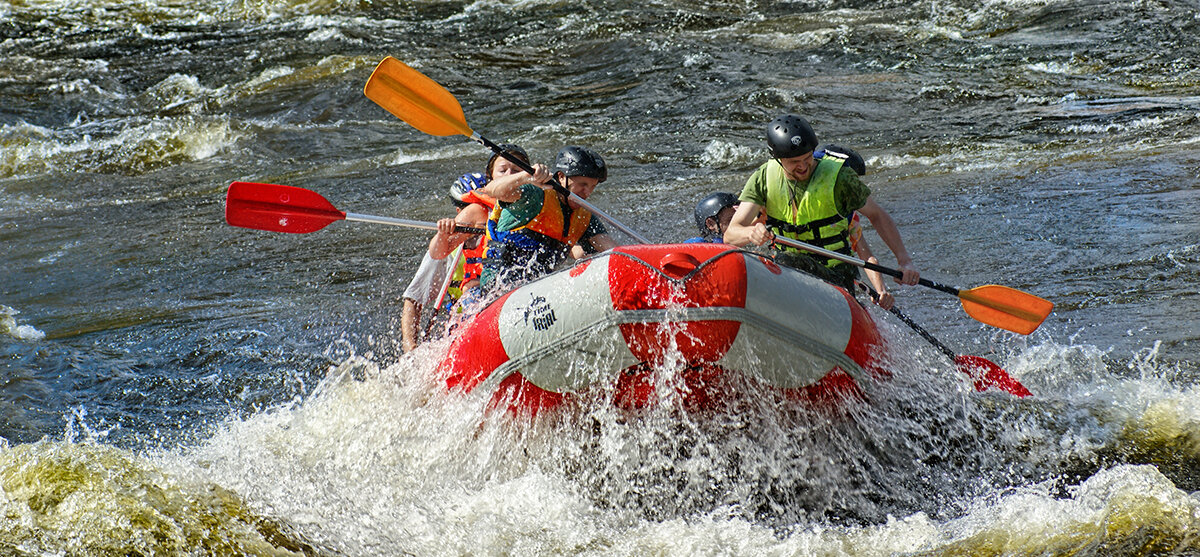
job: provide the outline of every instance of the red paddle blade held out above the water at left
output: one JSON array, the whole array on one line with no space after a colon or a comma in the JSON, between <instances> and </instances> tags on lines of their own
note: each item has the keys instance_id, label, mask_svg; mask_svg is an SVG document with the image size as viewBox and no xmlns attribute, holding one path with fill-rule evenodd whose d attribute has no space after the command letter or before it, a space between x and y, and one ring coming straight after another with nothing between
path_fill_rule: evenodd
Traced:
<instances>
[{"instance_id":1,"label":"red paddle blade held out above the water at left","mask_svg":"<svg viewBox=\"0 0 1200 557\"><path fill-rule=\"evenodd\" d=\"M344 212L302 187L235 181L226 194L226 222L236 227L307 234L343 218Z\"/></svg>"}]
</instances>

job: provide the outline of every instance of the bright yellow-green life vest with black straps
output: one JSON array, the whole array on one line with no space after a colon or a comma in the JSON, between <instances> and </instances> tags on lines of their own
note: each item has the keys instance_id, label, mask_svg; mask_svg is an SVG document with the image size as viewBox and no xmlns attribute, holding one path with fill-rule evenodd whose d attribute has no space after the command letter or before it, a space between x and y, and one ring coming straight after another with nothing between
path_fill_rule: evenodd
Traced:
<instances>
[{"instance_id":1,"label":"bright yellow-green life vest with black straps","mask_svg":"<svg viewBox=\"0 0 1200 557\"><path fill-rule=\"evenodd\" d=\"M784 173L779 161L767 164L767 227L775 234L839 253L850 251L850 221L838 212L834 186L845 158L823 156L817 161L809 187L796 191L794 181ZM799 251L784 247L786 251ZM803 252L809 253L809 252ZM818 257L818 256L817 256ZM844 264L827 259L826 266Z\"/></svg>"}]
</instances>

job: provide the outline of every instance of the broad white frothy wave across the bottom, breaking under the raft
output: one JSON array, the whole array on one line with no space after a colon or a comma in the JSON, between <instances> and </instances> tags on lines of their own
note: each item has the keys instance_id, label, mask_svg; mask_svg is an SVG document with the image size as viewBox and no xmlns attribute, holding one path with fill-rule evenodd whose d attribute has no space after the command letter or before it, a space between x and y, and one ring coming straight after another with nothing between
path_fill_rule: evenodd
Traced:
<instances>
[{"instance_id":1,"label":"broad white frothy wave across the bottom, breaking under the raft","mask_svg":"<svg viewBox=\"0 0 1200 557\"><path fill-rule=\"evenodd\" d=\"M443 349L424 345L390 366L352 358L306 399L229 419L173 451L0 444L0 507L18 517L0 544L154 552L187 543L247 555L1200 550L1200 498L1186 475L1200 455L1200 407L1152 354L1130 363L1141 376L1122 378L1088 347L1013 353L1003 360L1036 391L1030 401L959 390L956 372L929 367L938 354L918 351L894 387L874 391L884 409L776 421L750 407L716 420L665 408L630 419L584 403L529 421L491 414L482 396L443 393L431 381ZM901 461L914 448L923 462L911 468ZM902 456L898 481L858 485L864 472L895 474L874 467L887 451ZM827 496L797 495L924 497L922 474L949 474L958 493L862 523L824 514ZM799 491L769 491L788 486ZM715 498L702 504L702 493ZM763 497L800 508L775 523L746 507Z\"/></svg>"}]
</instances>

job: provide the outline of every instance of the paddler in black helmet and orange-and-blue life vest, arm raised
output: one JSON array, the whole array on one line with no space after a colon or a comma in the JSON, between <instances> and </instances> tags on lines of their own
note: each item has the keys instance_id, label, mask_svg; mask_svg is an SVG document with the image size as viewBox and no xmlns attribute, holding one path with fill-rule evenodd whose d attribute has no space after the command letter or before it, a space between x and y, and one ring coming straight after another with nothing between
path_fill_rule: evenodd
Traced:
<instances>
[{"instance_id":1,"label":"paddler in black helmet and orange-and-blue life vest, arm raised","mask_svg":"<svg viewBox=\"0 0 1200 557\"><path fill-rule=\"evenodd\" d=\"M488 184L498 200L487 221L487 256L482 286L511 287L553 271L568 257L611 250L617 244L599 218L571 206L550 186L551 175L571 193L587 199L608 179L608 167L595 150L568 145L547 168L534 164L534 174L520 184ZM551 174L553 173L553 174Z\"/></svg>"}]
</instances>

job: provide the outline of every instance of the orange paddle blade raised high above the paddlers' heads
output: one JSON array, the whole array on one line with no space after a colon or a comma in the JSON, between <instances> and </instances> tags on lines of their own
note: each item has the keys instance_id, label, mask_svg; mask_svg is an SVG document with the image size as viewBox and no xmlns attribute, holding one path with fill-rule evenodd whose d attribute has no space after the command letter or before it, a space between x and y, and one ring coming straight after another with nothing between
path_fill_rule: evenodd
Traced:
<instances>
[{"instance_id":1,"label":"orange paddle blade raised high above the paddlers' heads","mask_svg":"<svg viewBox=\"0 0 1200 557\"><path fill-rule=\"evenodd\" d=\"M431 136L470 137L462 106L444 86L407 64L388 56L362 88L367 98Z\"/></svg>"}]
</instances>

